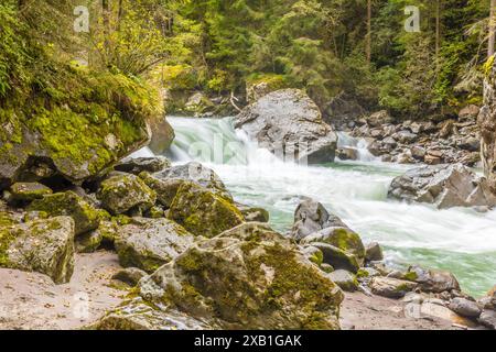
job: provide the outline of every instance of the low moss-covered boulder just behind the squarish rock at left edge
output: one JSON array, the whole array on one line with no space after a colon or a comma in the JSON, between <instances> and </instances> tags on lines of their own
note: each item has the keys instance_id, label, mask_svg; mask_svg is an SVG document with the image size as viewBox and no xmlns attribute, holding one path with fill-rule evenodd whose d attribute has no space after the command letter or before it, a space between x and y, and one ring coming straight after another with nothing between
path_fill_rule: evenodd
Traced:
<instances>
[{"instance_id":1,"label":"low moss-covered boulder just behind the squarish rock at left edge","mask_svg":"<svg viewBox=\"0 0 496 352\"><path fill-rule=\"evenodd\" d=\"M71 217L74 219L76 235L95 230L100 223L100 212L71 190L36 199L28 207L28 211Z\"/></svg>"}]
</instances>

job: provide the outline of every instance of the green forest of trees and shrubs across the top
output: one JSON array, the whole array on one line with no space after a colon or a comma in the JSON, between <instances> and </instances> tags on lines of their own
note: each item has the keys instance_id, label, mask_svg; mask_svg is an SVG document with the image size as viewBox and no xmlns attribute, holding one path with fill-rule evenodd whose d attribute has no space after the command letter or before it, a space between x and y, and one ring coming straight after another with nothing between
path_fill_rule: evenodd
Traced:
<instances>
[{"instance_id":1,"label":"green forest of trees and shrubs across the top","mask_svg":"<svg viewBox=\"0 0 496 352\"><path fill-rule=\"evenodd\" d=\"M33 85L56 95L54 67L84 63L170 90L242 97L247 84L270 80L321 106L346 94L397 117L450 113L482 101L494 2L7 0L0 102ZM89 33L74 30L77 6L89 9ZM407 6L420 9L420 32L405 30Z\"/></svg>"}]
</instances>

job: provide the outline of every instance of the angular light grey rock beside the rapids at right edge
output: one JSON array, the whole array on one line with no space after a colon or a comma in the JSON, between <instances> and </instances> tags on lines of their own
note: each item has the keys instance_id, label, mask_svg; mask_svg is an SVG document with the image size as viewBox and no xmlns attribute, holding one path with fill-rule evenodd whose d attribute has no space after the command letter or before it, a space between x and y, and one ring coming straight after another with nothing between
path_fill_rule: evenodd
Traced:
<instances>
[{"instance_id":1,"label":"angular light grey rock beside the rapids at right edge","mask_svg":"<svg viewBox=\"0 0 496 352\"><path fill-rule=\"evenodd\" d=\"M440 209L496 206L496 196L489 190L487 180L461 164L422 166L408 170L392 180L388 196L434 204Z\"/></svg>"}]
</instances>

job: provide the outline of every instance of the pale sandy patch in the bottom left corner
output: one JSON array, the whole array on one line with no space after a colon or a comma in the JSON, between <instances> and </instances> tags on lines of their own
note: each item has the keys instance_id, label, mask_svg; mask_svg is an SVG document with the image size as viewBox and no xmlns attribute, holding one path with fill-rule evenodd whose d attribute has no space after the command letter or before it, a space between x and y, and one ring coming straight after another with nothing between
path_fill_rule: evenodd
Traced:
<instances>
[{"instance_id":1,"label":"pale sandy patch in the bottom left corner","mask_svg":"<svg viewBox=\"0 0 496 352\"><path fill-rule=\"evenodd\" d=\"M68 330L98 319L126 290L112 287L117 255L77 254L71 283L54 285L45 275L0 268L0 329Z\"/></svg>"}]
</instances>

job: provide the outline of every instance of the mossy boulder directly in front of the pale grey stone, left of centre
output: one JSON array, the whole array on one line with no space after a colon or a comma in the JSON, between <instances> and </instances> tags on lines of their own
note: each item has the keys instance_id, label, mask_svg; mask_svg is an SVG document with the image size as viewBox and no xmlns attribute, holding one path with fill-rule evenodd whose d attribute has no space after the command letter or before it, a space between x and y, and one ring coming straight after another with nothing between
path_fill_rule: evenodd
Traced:
<instances>
[{"instance_id":1,"label":"mossy boulder directly in front of the pale grey stone, left of centre","mask_svg":"<svg viewBox=\"0 0 496 352\"><path fill-rule=\"evenodd\" d=\"M191 233L206 238L244 222L241 212L230 200L194 183L186 183L179 188L168 218Z\"/></svg>"}]
</instances>

